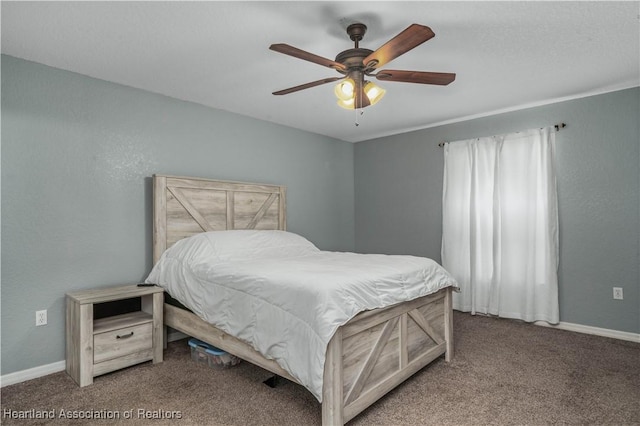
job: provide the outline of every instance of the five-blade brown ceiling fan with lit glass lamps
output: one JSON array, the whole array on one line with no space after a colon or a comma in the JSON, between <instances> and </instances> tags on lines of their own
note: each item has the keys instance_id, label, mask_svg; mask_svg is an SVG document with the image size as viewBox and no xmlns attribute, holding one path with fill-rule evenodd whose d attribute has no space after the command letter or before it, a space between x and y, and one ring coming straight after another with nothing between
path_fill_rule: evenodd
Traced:
<instances>
[{"instance_id":1,"label":"five-blade brown ceiling fan with lit glass lamps","mask_svg":"<svg viewBox=\"0 0 640 426\"><path fill-rule=\"evenodd\" d=\"M326 83L342 80L335 88L338 97L338 105L347 109L364 108L375 104L384 96L384 90L365 80L366 77L375 77L381 81L397 81L405 83L447 85L455 80L454 73L406 71L406 70L378 70L379 67L394 60L398 56L408 52L416 46L435 36L431 28L412 24L400 34L383 44L377 50L359 47L360 40L364 37L367 26L354 23L347 27L347 34L353 40L353 49L347 49L338 53L335 60L314 55L288 44L277 43L269 46L269 49L305 61L333 68L343 77L328 77L288 89L273 92L274 95L286 95L299 90L309 89Z\"/></svg>"}]
</instances>

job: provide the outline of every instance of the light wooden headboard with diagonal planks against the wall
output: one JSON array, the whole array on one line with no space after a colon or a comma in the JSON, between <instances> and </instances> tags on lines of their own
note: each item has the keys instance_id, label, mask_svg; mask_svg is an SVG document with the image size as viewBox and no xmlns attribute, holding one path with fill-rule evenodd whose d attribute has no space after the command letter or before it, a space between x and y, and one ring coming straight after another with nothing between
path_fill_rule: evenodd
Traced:
<instances>
[{"instance_id":1,"label":"light wooden headboard with diagonal planks against the wall","mask_svg":"<svg viewBox=\"0 0 640 426\"><path fill-rule=\"evenodd\" d=\"M153 176L153 263L176 241L205 231L286 229L286 187Z\"/></svg>"}]
</instances>

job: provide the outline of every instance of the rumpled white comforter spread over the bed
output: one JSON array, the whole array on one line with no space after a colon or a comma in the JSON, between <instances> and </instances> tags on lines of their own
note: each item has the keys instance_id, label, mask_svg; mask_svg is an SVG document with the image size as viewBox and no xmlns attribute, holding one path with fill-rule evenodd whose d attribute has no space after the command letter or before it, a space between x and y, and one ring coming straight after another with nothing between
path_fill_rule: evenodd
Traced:
<instances>
[{"instance_id":1,"label":"rumpled white comforter spread over the bed","mask_svg":"<svg viewBox=\"0 0 640 426\"><path fill-rule=\"evenodd\" d=\"M169 248L147 282L275 360L322 401L327 344L357 313L455 280L431 259L320 251L284 231L218 231Z\"/></svg>"}]
</instances>

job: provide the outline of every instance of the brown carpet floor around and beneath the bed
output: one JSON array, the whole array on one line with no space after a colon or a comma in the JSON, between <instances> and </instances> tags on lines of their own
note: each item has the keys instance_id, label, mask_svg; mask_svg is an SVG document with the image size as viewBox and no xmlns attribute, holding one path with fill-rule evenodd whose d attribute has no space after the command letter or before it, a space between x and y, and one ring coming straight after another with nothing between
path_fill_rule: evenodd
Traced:
<instances>
[{"instance_id":1,"label":"brown carpet floor around and beneath the bed","mask_svg":"<svg viewBox=\"0 0 640 426\"><path fill-rule=\"evenodd\" d=\"M640 425L640 343L454 314L455 358L440 358L349 425ZM1 390L2 424L319 425L320 404L248 362L211 369L186 340L160 364L97 377L64 372ZM31 417L20 419L14 417ZM33 418L47 416L46 419ZM93 418L91 418L93 417Z\"/></svg>"}]
</instances>

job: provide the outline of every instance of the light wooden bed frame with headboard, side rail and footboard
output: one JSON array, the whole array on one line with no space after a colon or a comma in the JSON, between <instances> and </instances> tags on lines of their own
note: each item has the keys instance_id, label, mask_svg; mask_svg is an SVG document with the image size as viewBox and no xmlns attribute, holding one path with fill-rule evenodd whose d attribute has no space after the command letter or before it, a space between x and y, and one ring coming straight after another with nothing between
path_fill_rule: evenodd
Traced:
<instances>
[{"instance_id":1,"label":"light wooden bed frame with headboard, side rail and footboard","mask_svg":"<svg viewBox=\"0 0 640 426\"><path fill-rule=\"evenodd\" d=\"M153 261L204 231L286 229L285 187L154 175ZM327 347L322 424L342 425L441 356L453 357L451 288L356 315ZM248 344L165 303L164 322L295 383Z\"/></svg>"}]
</instances>

